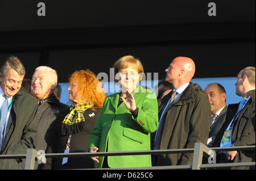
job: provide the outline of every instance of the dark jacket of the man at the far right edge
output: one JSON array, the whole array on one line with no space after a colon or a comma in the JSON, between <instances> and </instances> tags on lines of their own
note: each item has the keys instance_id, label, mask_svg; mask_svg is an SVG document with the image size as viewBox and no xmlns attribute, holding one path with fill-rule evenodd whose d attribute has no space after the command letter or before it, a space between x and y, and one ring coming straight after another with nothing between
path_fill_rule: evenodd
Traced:
<instances>
[{"instance_id":1,"label":"dark jacket of the man at the far right edge","mask_svg":"<svg viewBox=\"0 0 256 181\"><path fill-rule=\"evenodd\" d=\"M234 122L232 132L232 144L234 144L234 146L255 145L255 89L247 92L247 95L251 98L248 100L237 120ZM216 140L213 143L213 147L220 147L222 136L236 114L238 106L239 103L230 104L228 106L225 123L218 133ZM222 160L220 161L222 162ZM238 151L233 162L255 162L255 150ZM231 169L255 169L255 166L232 167Z\"/></svg>"}]
</instances>

